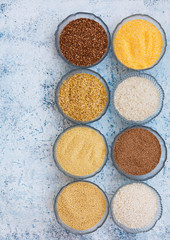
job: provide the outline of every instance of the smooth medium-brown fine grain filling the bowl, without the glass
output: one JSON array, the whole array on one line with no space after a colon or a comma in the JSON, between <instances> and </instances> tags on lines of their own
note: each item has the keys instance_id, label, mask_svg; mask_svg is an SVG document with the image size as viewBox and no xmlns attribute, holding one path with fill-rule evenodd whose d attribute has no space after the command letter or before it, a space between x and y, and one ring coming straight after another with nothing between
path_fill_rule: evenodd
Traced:
<instances>
[{"instance_id":1,"label":"smooth medium-brown fine grain filling the bowl, without the glass","mask_svg":"<svg viewBox=\"0 0 170 240\"><path fill-rule=\"evenodd\" d=\"M118 167L132 175L145 175L159 163L161 146L149 130L135 127L118 136L113 149L113 158Z\"/></svg>"}]
</instances>

